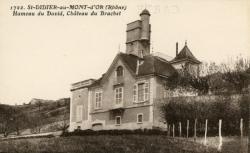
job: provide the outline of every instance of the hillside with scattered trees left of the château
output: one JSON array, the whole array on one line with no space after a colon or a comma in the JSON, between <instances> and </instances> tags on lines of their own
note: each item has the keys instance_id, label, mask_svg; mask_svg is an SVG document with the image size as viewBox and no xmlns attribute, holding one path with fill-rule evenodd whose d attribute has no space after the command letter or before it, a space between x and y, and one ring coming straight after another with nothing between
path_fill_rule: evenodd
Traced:
<instances>
[{"instance_id":1,"label":"hillside with scattered trees left of the ch\u00e2teau","mask_svg":"<svg viewBox=\"0 0 250 153\"><path fill-rule=\"evenodd\" d=\"M69 120L70 99L32 99L29 104L0 104L0 134L30 134L65 128Z\"/></svg>"}]
</instances>

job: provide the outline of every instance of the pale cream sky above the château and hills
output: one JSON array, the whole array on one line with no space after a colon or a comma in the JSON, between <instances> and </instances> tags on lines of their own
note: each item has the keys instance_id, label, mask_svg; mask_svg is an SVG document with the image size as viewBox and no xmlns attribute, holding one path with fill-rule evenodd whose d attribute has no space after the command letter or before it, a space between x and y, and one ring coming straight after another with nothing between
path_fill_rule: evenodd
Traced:
<instances>
[{"instance_id":1,"label":"pale cream sky above the ch\u00e2teau and hills","mask_svg":"<svg viewBox=\"0 0 250 153\"><path fill-rule=\"evenodd\" d=\"M13 5L125 5L121 16L12 16ZM70 97L74 82L97 79L125 52L126 24L150 13L151 51L175 56L187 40L201 61L250 56L247 0L1 0L0 103Z\"/></svg>"}]
</instances>

